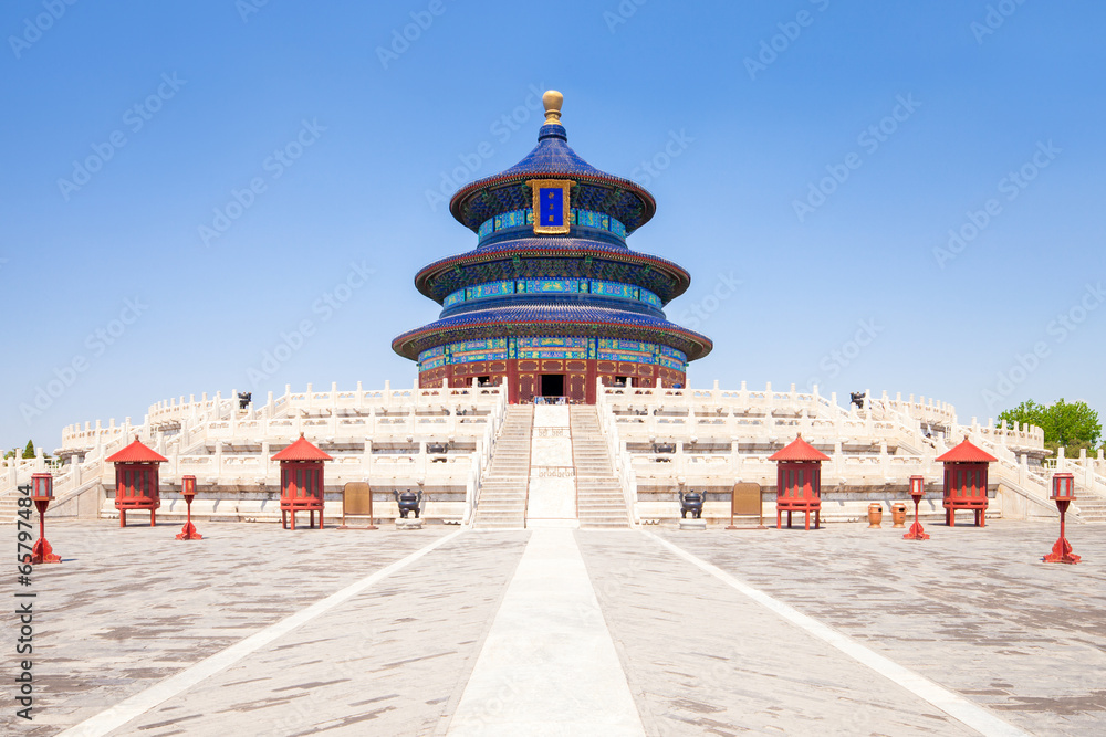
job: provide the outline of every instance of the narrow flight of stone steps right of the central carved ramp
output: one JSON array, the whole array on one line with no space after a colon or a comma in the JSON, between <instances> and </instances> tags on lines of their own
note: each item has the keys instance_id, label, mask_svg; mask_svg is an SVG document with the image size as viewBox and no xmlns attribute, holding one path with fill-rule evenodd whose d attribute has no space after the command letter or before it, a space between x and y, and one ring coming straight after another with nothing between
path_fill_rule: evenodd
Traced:
<instances>
[{"instance_id":1,"label":"narrow flight of stone steps right of the central carved ramp","mask_svg":"<svg viewBox=\"0 0 1106 737\"><path fill-rule=\"evenodd\" d=\"M615 475L598 408L572 407L572 460L576 466L576 517L581 529L615 529L629 526L626 502Z\"/></svg>"}]
</instances>

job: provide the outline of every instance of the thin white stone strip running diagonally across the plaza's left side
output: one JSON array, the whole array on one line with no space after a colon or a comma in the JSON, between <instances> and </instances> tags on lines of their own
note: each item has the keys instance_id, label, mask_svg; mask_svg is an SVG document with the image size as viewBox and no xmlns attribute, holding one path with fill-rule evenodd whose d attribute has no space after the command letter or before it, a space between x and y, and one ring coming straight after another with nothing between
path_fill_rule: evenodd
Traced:
<instances>
[{"instance_id":1,"label":"thin white stone strip running diagonally across the plaza's left side","mask_svg":"<svg viewBox=\"0 0 1106 737\"><path fill-rule=\"evenodd\" d=\"M65 731L59 733L58 737L102 737L103 735L122 727L132 719L155 708L159 704L173 698L188 688L191 688L205 678L230 667L243 657L261 650L269 643L288 634L301 624L310 622L320 614L324 614L345 603L358 593L386 579L388 576L392 576L396 571L424 557L428 552L441 547L446 543L449 543L463 531L463 529L459 529L438 538L430 545L427 545L426 547L408 555L406 558L401 558L400 560L385 566L380 570L366 576L359 581L351 583L346 588L332 593L325 599L320 599L306 609L301 609L296 613L285 617L281 621L270 624L259 632L254 632L244 640L236 642L229 647L201 660L199 663L189 665L180 673L170 675L145 691L123 699L115 706L101 712L95 716L88 717L84 722L70 727Z\"/></svg>"}]
</instances>

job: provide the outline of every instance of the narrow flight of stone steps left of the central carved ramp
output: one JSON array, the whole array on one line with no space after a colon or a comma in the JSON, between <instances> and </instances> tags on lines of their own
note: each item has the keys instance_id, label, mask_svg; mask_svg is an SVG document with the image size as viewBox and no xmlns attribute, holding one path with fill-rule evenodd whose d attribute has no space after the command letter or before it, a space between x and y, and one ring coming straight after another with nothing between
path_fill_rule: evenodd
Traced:
<instances>
[{"instance_id":1,"label":"narrow flight of stone steps left of the central carved ramp","mask_svg":"<svg viewBox=\"0 0 1106 737\"><path fill-rule=\"evenodd\" d=\"M533 404L507 408L491 463L480 482L476 516L477 529L518 529L526 526L526 491L530 483L530 436Z\"/></svg>"}]
</instances>

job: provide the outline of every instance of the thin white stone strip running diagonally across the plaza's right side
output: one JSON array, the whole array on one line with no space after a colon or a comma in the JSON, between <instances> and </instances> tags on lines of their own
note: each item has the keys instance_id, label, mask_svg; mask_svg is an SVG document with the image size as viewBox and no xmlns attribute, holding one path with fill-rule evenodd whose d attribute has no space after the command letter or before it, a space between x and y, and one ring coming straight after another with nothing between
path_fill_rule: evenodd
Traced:
<instances>
[{"instance_id":1,"label":"thin white stone strip running diagonally across the plaza's right side","mask_svg":"<svg viewBox=\"0 0 1106 737\"><path fill-rule=\"evenodd\" d=\"M899 665L889 657L880 655L874 650L862 645L848 635L837 632L827 624L823 624L813 617L802 613L794 607L785 604L779 599L764 593L760 589L755 589L748 583L744 583L730 573L727 573L718 566L702 560L701 558L680 548L678 545L669 543L668 540L660 538L648 530L641 530L641 533L651 537L657 543L691 565L698 567L707 573L710 573L730 588L749 597L774 614L782 617L808 634L814 635L815 638L845 653L862 665L866 665L879 675L890 680L893 683L929 702L937 708L971 727L981 735L985 735L987 737L1032 737L1030 733L1019 729L1009 722L1000 719L960 694L933 683L929 678Z\"/></svg>"}]
</instances>

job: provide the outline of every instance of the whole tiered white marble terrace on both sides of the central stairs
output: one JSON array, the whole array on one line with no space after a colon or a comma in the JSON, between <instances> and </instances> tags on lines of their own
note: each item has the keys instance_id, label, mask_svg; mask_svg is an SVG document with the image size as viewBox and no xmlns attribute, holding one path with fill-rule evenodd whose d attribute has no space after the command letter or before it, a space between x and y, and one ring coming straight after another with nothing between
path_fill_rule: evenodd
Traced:
<instances>
[{"instance_id":1,"label":"whole tiered white marble terrace on both sides of the central stairs","mask_svg":"<svg viewBox=\"0 0 1106 737\"><path fill-rule=\"evenodd\" d=\"M991 513L1025 518L1055 515L1051 476L1075 474L1076 491L1106 496L1106 460L1045 456L1040 428L960 424L951 404L886 392L864 409L842 407L834 394L776 391L771 385L740 389L601 387L598 409L608 449L633 517L638 524L679 516L676 489L706 487L705 516L728 520L732 484L754 482L771 503L775 464L768 456L797 433L831 456L823 464L828 520L856 519L869 502L906 497L907 478L926 477L924 513L939 512L941 464L935 457L963 438L999 459L991 465ZM394 488L421 486L428 522L468 524L482 473L494 450L507 408L501 387L271 392L240 409L237 392L158 402L140 423L129 418L70 425L62 431L62 463L9 459L0 467L0 518L14 513L18 484L50 470L55 474L52 516L114 517L115 475L104 459L138 436L161 453L161 517L184 512L180 476L197 476L195 516L279 519L279 464L271 456L300 433L334 456L326 464L327 516L341 514L341 489L352 481L374 487L377 517L397 515ZM1044 461L1044 462L1043 462ZM1076 503L1077 504L1077 503ZM134 515L135 522L142 515Z\"/></svg>"}]
</instances>

